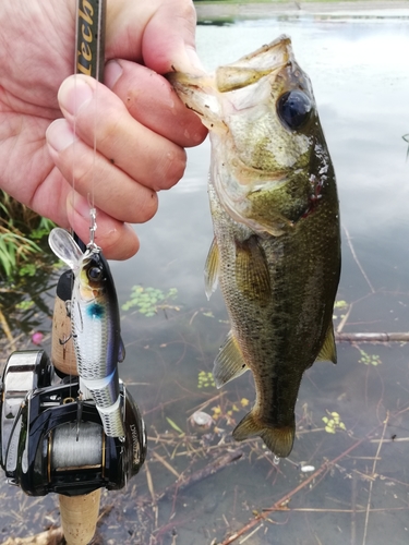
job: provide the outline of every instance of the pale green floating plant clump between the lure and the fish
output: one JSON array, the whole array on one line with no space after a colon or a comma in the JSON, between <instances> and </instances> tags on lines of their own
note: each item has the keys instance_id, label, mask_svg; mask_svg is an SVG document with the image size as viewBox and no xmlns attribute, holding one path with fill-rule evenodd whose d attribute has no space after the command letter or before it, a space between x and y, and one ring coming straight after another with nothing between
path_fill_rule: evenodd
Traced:
<instances>
[{"instance_id":1,"label":"pale green floating plant clump between the lure and the fish","mask_svg":"<svg viewBox=\"0 0 409 545\"><path fill-rule=\"evenodd\" d=\"M170 305L169 301L176 299L178 290L170 288L165 293L156 288L144 288L142 286L133 286L131 290L131 299L122 306L122 311L130 311L135 308L136 312L146 317L155 316L158 311L173 310L179 311L179 306Z\"/></svg>"}]
</instances>

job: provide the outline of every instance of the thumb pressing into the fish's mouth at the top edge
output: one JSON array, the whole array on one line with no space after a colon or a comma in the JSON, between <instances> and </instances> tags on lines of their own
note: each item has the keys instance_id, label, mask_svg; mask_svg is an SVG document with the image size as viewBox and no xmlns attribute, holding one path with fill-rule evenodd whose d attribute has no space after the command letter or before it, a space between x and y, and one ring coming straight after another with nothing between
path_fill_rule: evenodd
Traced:
<instances>
[{"instance_id":1,"label":"thumb pressing into the fish's mouth at the top edge","mask_svg":"<svg viewBox=\"0 0 409 545\"><path fill-rule=\"evenodd\" d=\"M195 28L196 11L191 0L160 3L143 34L145 65L159 74L175 71L202 74L204 69L196 53Z\"/></svg>"}]
</instances>

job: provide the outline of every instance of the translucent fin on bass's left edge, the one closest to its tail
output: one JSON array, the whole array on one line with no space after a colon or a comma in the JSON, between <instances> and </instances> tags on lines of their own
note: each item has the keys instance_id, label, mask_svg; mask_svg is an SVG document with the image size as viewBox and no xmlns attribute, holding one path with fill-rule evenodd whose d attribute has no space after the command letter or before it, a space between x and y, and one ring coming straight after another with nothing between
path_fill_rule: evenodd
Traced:
<instances>
[{"instance_id":1,"label":"translucent fin on bass's left edge, the one closest to its tail","mask_svg":"<svg viewBox=\"0 0 409 545\"><path fill-rule=\"evenodd\" d=\"M245 373L248 368L237 339L232 331L229 331L213 366L216 387L221 388L229 380Z\"/></svg>"}]
</instances>

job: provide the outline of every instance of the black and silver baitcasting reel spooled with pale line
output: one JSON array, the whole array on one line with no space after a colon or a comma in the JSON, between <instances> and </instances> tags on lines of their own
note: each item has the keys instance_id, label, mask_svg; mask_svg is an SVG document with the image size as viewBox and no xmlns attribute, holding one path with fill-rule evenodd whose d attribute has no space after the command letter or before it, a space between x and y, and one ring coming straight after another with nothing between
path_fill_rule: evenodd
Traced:
<instances>
[{"instance_id":1,"label":"black and silver baitcasting reel spooled with pale line","mask_svg":"<svg viewBox=\"0 0 409 545\"><path fill-rule=\"evenodd\" d=\"M61 379L44 350L11 354L1 389L0 464L26 494L119 489L140 471L145 425L123 383L123 441L104 433L94 401L79 404L79 378Z\"/></svg>"}]
</instances>

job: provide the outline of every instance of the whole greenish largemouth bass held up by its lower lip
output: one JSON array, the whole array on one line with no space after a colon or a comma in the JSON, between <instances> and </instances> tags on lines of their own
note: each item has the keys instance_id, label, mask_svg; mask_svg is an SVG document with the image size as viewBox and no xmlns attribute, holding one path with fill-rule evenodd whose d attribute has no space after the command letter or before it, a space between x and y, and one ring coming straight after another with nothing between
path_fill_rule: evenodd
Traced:
<instances>
[{"instance_id":1,"label":"whole greenish largemouth bass held up by its lower lip","mask_svg":"<svg viewBox=\"0 0 409 545\"><path fill-rule=\"evenodd\" d=\"M169 80L210 133L205 283L209 296L218 280L231 323L216 386L250 368L256 398L233 437L287 457L302 374L336 362L338 197L312 86L287 36L213 75Z\"/></svg>"}]
</instances>

